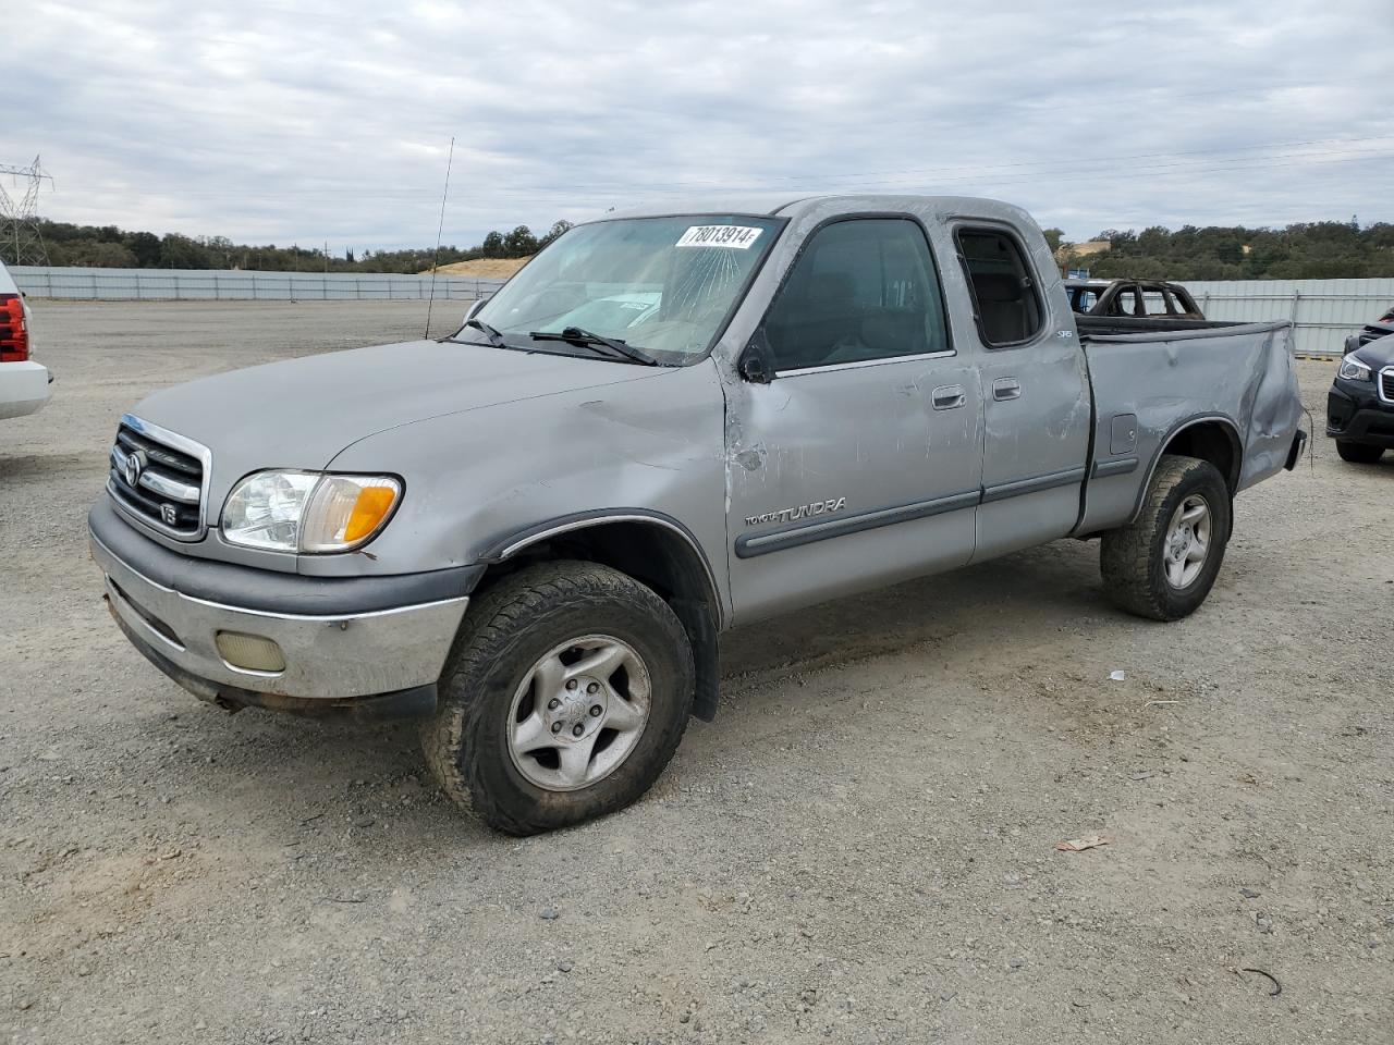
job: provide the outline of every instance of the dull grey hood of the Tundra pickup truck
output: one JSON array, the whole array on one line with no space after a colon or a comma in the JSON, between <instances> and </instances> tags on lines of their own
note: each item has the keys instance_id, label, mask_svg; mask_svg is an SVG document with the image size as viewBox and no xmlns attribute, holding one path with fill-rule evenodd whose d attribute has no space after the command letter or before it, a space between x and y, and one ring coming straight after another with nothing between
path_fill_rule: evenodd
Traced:
<instances>
[{"instance_id":1,"label":"dull grey hood of the Tundra pickup truck","mask_svg":"<svg viewBox=\"0 0 1394 1045\"><path fill-rule=\"evenodd\" d=\"M323 468L350 443L414 421L662 372L407 341L217 373L156 392L134 412L209 447L216 488L259 468Z\"/></svg>"}]
</instances>

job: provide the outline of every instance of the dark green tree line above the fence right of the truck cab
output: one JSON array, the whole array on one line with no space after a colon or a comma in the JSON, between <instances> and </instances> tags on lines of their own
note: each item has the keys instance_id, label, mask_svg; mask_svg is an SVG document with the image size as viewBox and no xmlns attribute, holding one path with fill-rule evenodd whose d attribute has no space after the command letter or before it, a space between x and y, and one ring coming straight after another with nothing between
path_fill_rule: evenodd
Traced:
<instances>
[{"instance_id":1,"label":"dark green tree line above the fence right of the truck cab","mask_svg":"<svg viewBox=\"0 0 1394 1045\"><path fill-rule=\"evenodd\" d=\"M1108 249L1079 255L1065 244L1062 268L1103 279L1324 280L1394 276L1394 224L1310 222L1285 229L1160 226L1107 230Z\"/></svg>"}]
</instances>

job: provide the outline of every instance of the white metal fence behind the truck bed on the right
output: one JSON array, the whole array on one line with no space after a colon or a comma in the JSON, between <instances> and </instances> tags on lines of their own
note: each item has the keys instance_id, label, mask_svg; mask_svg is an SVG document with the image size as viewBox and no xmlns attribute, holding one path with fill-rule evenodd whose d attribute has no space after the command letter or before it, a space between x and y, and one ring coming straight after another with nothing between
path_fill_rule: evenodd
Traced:
<instances>
[{"instance_id":1,"label":"white metal fence behind the truck bed on the right","mask_svg":"<svg viewBox=\"0 0 1394 1045\"><path fill-rule=\"evenodd\" d=\"M1347 334L1394 307L1394 279L1185 283L1207 319L1291 319L1298 355L1340 355Z\"/></svg>"}]
</instances>

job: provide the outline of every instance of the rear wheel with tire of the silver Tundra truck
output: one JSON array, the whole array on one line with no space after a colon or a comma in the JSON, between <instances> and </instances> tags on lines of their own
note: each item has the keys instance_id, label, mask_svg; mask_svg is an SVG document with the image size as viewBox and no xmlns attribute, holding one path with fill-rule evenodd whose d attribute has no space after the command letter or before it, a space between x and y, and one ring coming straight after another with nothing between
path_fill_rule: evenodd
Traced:
<instances>
[{"instance_id":1,"label":"rear wheel with tire of the silver Tundra truck","mask_svg":"<svg viewBox=\"0 0 1394 1045\"><path fill-rule=\"evenodd\" d=\"M1138 520L1103 536L1098 566L1108 598L1153 620L1193 613L1220 573L1231 511L1213 464L1164 456Z\"/></svg>"}]
</instances>

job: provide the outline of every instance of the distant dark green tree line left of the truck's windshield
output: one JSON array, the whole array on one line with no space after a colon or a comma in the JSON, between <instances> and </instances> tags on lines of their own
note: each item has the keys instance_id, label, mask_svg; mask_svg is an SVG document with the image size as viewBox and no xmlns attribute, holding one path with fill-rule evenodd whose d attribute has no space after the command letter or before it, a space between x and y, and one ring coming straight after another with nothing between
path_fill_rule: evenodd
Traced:
<instances>
[{"instance_id":1,"label":"distant dark green tree line left of the truck's windshield","mask_svg":"<svg viewBox=\"0 0 1394 1045\"><path fill-rule=\"evenodd\" d=\"M266 272L422 272L436 258L434 247L403 251L329 254L323 247L238 244L224 235L127 231L114 224L91 226L39 219L39 233L50 265L89 265L105 269L254 269ZM527 258L572 227L560 220L544 235L526 224L492 231L477 247L441 247L441 265L475 258ZM0 261L4 256L0 244Z\"/></svg>"}]
</instances>

